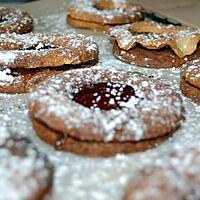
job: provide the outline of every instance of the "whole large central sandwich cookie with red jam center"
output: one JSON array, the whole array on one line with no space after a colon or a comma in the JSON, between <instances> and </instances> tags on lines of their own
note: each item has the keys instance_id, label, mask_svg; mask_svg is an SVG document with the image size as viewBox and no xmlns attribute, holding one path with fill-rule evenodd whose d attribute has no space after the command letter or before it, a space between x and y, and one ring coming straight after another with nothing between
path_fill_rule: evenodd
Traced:
<instances>
[{"instance_id":1,"label":"whole large central sandwich cookie with red jam center","mask_svg":"<svg viewBox=\"0 0 200 200\"><path fill-rule=\"evenodd\" d=\"M87 156L144 151L180 125L180 96L140 73L78 69L31 95L37 135L56 149Z\"/></svg>"}]
</instances>

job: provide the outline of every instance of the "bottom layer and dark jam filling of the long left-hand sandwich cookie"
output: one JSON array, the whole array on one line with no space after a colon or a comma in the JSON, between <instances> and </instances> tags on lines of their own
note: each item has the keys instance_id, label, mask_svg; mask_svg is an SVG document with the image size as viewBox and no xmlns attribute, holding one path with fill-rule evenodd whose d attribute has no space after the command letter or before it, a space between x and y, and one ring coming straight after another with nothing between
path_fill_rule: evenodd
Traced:
<instances>
[{"instance_id":1,"label":"bottom layer and dark jam filling of the long left-hand sandwich cookie","mask_svg":"<svg viewBox=\"0 0 200 200\"><path fill-rule=\"evenodd\" d=\"M35 90L44 80L61 74L67 70L93 66L97 60L81 65L65 65L61 67L46 67L36 69L0 68L0 93L26 93Z\"/></svg>"}]
</instances>

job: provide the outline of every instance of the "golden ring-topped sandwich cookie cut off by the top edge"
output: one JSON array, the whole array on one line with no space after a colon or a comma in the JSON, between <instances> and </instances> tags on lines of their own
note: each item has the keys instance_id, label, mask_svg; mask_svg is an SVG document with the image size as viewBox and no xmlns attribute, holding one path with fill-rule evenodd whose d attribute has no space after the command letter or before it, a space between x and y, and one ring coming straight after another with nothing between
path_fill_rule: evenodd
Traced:
<instances>
[{"instance_id":1,"label":"golden ring-topped sandwich cookie cut off by the top edge","mask_svg":"<svg viewBox=\"0 0 200 200\"><path fill-rule=\"evenodd\" d=\"M126 0L75 0L67 11L67 21L78 28L108 30L109 28L143 20L142 6Z\"/></svg>"}]
</instances>

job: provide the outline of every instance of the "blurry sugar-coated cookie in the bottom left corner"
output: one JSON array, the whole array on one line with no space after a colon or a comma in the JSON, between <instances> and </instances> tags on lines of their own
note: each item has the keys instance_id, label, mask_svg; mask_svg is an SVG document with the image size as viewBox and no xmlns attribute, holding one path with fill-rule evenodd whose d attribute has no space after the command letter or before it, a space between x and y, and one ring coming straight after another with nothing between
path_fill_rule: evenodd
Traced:
<instances>
[{"instance_id":1,"label":"blurry sugar-coated cookie in the bottom left corner","mask_svg":"<svg viewBox=\"0 0 200 200\"><path fill-rule=\"evenodd\" d=\"M49 194L53 166L26 139L9 137L0 144L1 198L42 200Z\"/></svg>"}]
</instances>

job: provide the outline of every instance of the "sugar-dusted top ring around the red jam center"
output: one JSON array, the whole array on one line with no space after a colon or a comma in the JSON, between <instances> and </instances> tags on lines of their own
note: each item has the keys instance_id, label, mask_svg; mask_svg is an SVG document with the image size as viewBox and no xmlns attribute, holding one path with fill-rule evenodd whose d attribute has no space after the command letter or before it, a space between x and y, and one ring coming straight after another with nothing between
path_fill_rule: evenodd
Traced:
<instances>
[{"instance_id":1,"label":"sugar-dusted top ring around the red jam center","mask_svg":"<svg viewBox=\"0 0 200 200\"><path fill-rule=\"evenodd\" d=\"M61 83L58 85L57 80L59 79L61 79ZM96 108L88 109L71 99L73 91L80 88L81 85L105 82L130 85L138 99L131 98L127 103L121 103L123 107L120 110L112 109L106 112ZM46 88L48 88L47 91L45 91ZM114 89L109 92L112 95L117 95ZM65 98L66 96L67 98ZM114 139L138 141L151 138L150 129L156 130L160 123L174 129L182 118L181 100L173 91L160 82L131 72L76 70L51 79L47 85L41 86L32 95L32 98L36 104L41 104L41 109L33 115L44 123L49 124L48 119L43 118L42 115L57 117L59 121L63 120L70 129L84 130L85 127L90 127L92 132L90 137L81 135L83 140L96 140L97 136L103 141L108 139L109 141ZM33 107L34 100L32 101ZM162 114L160 114L161 112ZM145 123L147 119L150 120L149 123ZM49 126L55 128L52 124ZM122 130L119 136L115 134L117 129ZM166 134L166 130L163 129L163 131L158 134Z\"/></svg>"}]
</instances>

